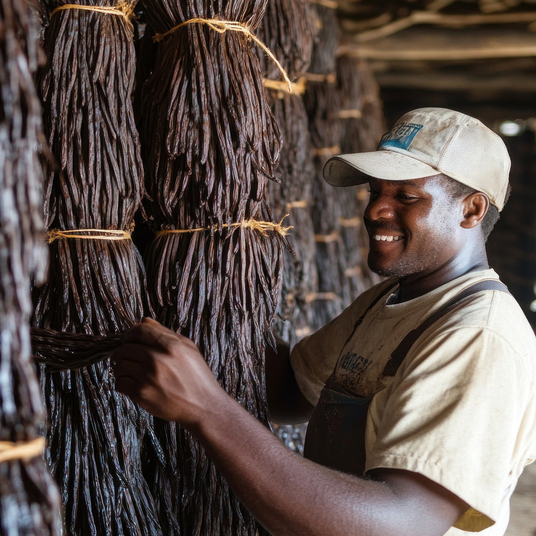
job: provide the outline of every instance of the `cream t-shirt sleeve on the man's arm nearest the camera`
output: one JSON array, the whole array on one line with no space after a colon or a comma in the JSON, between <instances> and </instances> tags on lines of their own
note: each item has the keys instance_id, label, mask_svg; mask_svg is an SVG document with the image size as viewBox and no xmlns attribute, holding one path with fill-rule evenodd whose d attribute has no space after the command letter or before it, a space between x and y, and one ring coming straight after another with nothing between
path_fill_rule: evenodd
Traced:
<instances>
[{"instance_id":1,"label":"cream t-shirt sleeve on the man's arm nearest the camera","mask_svg":"<svg viewBox=\"0 0 536 536\"><path fill-rule=\"evenodd\" d=\"M455 527L493 525L518 477L511 474L516 442L533 426L530 385L520 356L492 330L429 336L370 405L366 470L423 474L470 505Z\"/></svg>"}]
</instances>

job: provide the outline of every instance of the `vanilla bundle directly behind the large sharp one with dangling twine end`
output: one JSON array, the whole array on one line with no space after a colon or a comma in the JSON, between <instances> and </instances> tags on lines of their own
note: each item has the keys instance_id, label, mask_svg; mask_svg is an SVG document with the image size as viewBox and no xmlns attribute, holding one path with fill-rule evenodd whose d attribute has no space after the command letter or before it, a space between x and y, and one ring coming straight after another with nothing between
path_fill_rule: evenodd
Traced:
<instances>
[{"instance_id":1,"label":"vanilla bundle directly behind the large sharp one with dangling twine end","mask_svg":"<svg viewBox=\"0 0 536 536\"><path fill-rule=\"evenodd\" d=\"M314 11L308 0L269 0L257 35L276 52L288 76L295 80L291 92L278 80L277 66L260 54L267 100L282 137L276 170L281 182L269 182L268 196L276 219L289 214L287 225L294 227L291 245L295 255L285 252L279 299L279 320L274 325L279 336L291 345L295 333L303 334L310 325L310 304L306 296L316 291L314 230L310 218L311 184L314 167L307 127L307 111L302 95L304 72L309 66L316 35Z\"/></svg>"}]
</instances>

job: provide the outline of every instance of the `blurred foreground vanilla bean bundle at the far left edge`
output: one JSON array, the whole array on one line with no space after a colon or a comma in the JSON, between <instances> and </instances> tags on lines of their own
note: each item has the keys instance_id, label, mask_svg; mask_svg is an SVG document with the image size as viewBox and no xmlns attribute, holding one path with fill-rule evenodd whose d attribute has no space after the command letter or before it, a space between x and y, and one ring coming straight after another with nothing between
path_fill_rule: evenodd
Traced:
<instances>
[{"instance_id":1,"label":"blurred foreground vanilla bean bundle at the far left edge","mask_svg":"<svg viewBox=\"0 0 536 536\"><path fill-rule=\"evenodd\" d=\"M41 240L41 108L33 76L38 19L0 2L0 519L13 536L61 534L61 499L42 459L43 403L31 359L31 280L46 275Z\"/></svg>"}]
</instances>

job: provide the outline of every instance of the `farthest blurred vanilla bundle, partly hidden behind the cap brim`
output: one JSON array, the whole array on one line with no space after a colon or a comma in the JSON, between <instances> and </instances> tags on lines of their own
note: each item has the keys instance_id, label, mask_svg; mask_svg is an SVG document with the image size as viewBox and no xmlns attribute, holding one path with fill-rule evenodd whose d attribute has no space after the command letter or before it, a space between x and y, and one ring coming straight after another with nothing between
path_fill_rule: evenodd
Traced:
<instances>
[{"instance_id":1,"label":"farthest blurred vanilla bundle, partly hidden behind the cap brim","mask_svg":"<svg viewBox=\"0 0 536 536\"><path fill-rule=\"evenodd\" d=\"M343 128L341 151L357 153L374 151L383 132L383 114L378 87L368 65L349 56L337 58L337 85L340 94L338 116ZM341 238L345 251L343 285L349 303L378 281L367 265L368 233L362 214L367 206L366 188L344 189L351 195L340 196Z\"/></svg>"}]
</instances>

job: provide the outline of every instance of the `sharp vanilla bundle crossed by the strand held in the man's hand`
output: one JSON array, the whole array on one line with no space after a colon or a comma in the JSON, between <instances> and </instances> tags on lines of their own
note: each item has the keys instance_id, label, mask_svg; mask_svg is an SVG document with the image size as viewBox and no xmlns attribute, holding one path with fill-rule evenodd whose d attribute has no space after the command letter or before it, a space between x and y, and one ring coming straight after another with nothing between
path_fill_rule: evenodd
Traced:
<instances>
[{"instance_id":1,"label":"sharp vanilla bundle crossed by the strand held in the man's hand","mask_svg":"<svg viewBox=\"0 0 536 536\"><path fill-rule=\"evenodd\" d=\"M40 91L57 166L47 169L50 273L34 325L121 332L150 314L143 263L130 240L143 169L130 103L133 4L48 4ZM109 360L41 369L46 458L61 486L69 534L160 534L142 474L158 455L147 414L114 389Z\"/></svg>"}]
</instances>

